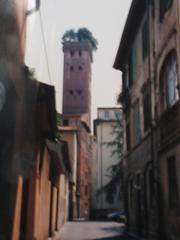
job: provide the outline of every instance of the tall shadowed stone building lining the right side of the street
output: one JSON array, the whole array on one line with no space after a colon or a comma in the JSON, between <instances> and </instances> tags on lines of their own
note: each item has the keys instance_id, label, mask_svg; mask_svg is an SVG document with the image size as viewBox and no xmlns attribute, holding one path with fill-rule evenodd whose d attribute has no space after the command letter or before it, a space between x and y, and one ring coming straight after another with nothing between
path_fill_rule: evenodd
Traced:
<instances>
[{"instance_id":1,"label":"tall shadowed stone building lining the right side of the street","mask_svg":"<svg viewBox=\"0 0 180 240\"><path fill-rule=\"evenodd\" d=\"M179 239L180 3L132 1L114 67L126 118L129 231Z\"/></svg>"}]
</instances>

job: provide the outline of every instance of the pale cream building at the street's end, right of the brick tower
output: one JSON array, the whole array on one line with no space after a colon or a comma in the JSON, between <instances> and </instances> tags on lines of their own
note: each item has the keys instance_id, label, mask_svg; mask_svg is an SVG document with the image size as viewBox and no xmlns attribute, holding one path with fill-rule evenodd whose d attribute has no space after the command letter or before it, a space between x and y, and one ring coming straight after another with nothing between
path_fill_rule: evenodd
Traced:
<instances>
[{"instance_id":1,"label":"pale cream building at the street's end, right of the brick tower","mask_svg":"<svg viewBox=\"0 0 180 240\"><path fill-rule=\"evenodd\" d=\"M112 155L114 147L108 144L116 141L117 136L113 134L113 128L117 127L117 124L121 127L122 110L120 108L98 108L97 114L97 119L94 120L96 158L93 163L95 169L95 173L93 173L93 210L97 217L103 217L108 212L123 208L120 184L112 202L108 202L105 192L97 194L111 178L109 168L120 161L118 154Z\"/></svg>"}]
</instances>

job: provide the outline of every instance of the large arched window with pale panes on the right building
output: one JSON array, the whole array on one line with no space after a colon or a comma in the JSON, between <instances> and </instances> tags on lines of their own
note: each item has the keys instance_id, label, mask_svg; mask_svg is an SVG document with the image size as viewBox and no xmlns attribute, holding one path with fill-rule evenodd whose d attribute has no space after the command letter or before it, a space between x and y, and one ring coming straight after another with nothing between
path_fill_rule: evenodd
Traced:
<instances>
[{"instance_id":1,"label":"large arched window with pale panes on the right building","mask_svg":"<svg viewBox=\"0 0 180 240\"><path fill-rule=\"evenodd\" d=\"M160 104L162 111L172 107L179 99L176 55L171 52L160 74Z\"/></svg>"}]
</instances>

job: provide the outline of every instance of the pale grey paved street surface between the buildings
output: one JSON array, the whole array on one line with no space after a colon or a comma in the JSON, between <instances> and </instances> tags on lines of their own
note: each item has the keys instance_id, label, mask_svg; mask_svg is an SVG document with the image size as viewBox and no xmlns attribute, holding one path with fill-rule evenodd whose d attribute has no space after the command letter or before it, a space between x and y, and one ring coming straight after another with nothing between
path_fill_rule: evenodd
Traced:
<instances>
[{"instance_id":1,"label":"pale grey paved street surface between the buildings","mask_svg":"<svg viewBox=\"0 0 180 240\"><path fill-rule=\"evenodd\" d=\"M55 240L133 240L123 234L123 225L115 222L68 222Z\"/></svg>"}]
</instances>

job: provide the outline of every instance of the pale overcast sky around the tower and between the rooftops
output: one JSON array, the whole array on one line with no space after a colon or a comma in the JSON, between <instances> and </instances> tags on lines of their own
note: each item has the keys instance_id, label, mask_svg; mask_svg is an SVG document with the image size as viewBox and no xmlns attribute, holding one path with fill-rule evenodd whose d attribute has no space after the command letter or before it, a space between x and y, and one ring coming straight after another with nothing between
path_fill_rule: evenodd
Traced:
<instances>
[{"instance_id":1,"label":"pale overcast sky around the tower and between the rooftops","mask_svg":"<svg viewBox=\"0 0 180 240\"><path fill-rule=\"evenodd\" d=\"M33 5L35 0L29 1ZM59 112L63 84L61 37L66 30L81 27L88 28L99 43L93 53L92 118L96 118L97 107L117 106L121 74L112 66L131 1L42 0L41 11L28 16L26 64L35 68L39 81L55 86Z\"/></svg>"}]
</instances>

